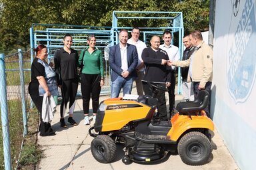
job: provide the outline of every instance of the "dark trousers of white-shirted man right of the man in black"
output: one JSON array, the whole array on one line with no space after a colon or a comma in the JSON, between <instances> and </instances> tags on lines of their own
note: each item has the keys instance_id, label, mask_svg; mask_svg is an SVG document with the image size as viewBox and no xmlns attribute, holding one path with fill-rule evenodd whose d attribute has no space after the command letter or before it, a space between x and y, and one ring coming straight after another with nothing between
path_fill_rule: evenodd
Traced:
<instances>
[{"instance_id":1,"label":"dark trousers of white-shirted man right of the man in black","mask_svg":"<svg viewBox=\"0 0 256 170\"><path fill-rule=\"evenodd\" d=\"M168 87L168 94L169 94L169 113L175 109L175 83L176 83L176 76L175 71L171 71L171 86Z\"/></svg>"}]
</instances>

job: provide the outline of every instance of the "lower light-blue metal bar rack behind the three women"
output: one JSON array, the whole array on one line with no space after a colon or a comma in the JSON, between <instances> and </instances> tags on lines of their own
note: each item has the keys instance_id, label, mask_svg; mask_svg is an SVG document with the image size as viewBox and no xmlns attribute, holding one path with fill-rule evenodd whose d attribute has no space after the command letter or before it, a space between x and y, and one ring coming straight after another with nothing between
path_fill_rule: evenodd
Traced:
<instances>
[{"instance_id":1,"label":"lower light-blue metal bar rack behind the three women","mask_svg":"<svg viewBox=\"0 0 256 170\"><path fill-rule=\"evenodd\" d=\"M39 27L39 28L37 28ZM42 27L44 27L42 29ZM39 30L40 29L40 30ZM95 35L97 38L96 47L99 50L107 51L109 44L111 43L111 27L85 27L85 26L74 26L74 25L37 25L33 24L30 29L31 34L31 48L36 48L38 44L45 44L49 53L49 60L53 61L52 58L56 50L63 48L63 37L69 33L73 37L72 48L81 52L87 47L87 36ZM33 60L34 53L31 53L31 60ZM105 85L101 88L101 94L109 94L110 92L110 68L108 66L108 58L105 57ZM80 88L77 94L81 95Z\"/></svg>"}]
</instances>

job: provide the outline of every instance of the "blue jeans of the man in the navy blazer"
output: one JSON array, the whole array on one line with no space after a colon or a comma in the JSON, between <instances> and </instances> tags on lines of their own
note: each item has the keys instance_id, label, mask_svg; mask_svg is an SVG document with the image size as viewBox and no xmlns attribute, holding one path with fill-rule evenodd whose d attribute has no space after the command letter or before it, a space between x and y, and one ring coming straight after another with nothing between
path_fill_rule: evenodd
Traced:
<instances>
[{"instance_id":1,"label":"blue jeans of the man in the navy blazer","mask_svg":"<svg viewBox=\"0 0 256 170\"><path fill-rule=\"evenodd\" d=\"M111 98L118 98L121 88L123 88L123 95L131 94L131 89L133 87L133 78L123 78L118 76L115 81L111 83Z\"/></svg>"}]
</instances>

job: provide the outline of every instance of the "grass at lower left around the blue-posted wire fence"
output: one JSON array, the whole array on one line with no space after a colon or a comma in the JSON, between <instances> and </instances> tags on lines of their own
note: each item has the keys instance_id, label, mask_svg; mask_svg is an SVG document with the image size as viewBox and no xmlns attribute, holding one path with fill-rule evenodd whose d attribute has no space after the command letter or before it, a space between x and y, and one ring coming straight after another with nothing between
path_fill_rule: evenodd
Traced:
<instances>
[{"instance_id":1,"label":"grass at lower left around the blue-posted wire fence","mask_svg":"<svg viewBox=\"0 0 256 170\"><path fill-rule=\"evenodd\" d=\"M27 104L27 106L29 106L29 104ZM11 143L11 164L12 167L15 168L17 165L17 160L19 159L21 143L23 140L23 118L21 110L21 100L8 101L8 114L9 137ZM31 167L34 167L35 163L37 163L41 157L41 151L37 149L36 144L37 125L39 122L39 114L37 113L37 110L31 110L27 122L29 134L24 139L23 151L21 152L21 159L19 162L18 169L34 169ZM2 134L1 127L0 133ZM2 137L0 139L0 169L4 169Z\"/></svg>"}]
</instances>

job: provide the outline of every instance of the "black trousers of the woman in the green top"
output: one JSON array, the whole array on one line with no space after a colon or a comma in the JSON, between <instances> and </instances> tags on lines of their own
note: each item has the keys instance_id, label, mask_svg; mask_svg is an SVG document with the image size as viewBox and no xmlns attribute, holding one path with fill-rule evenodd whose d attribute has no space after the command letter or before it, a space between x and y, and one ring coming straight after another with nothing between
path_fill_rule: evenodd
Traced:
<instances>
[{"instance_id":1,"label":"black trousers of the woman in the green top","mask_svg":"<svg viewBox=\"0 0 256 170\"><path fill-rule=\"evenodd\" d=\"M99 94L101 92L101 75L100 74L82 74L81 75L81 92L83 96L83 114L89 113L90 99L93 103L93 113L97 113L99 108Z\"/></svg>"}]
</instances>

